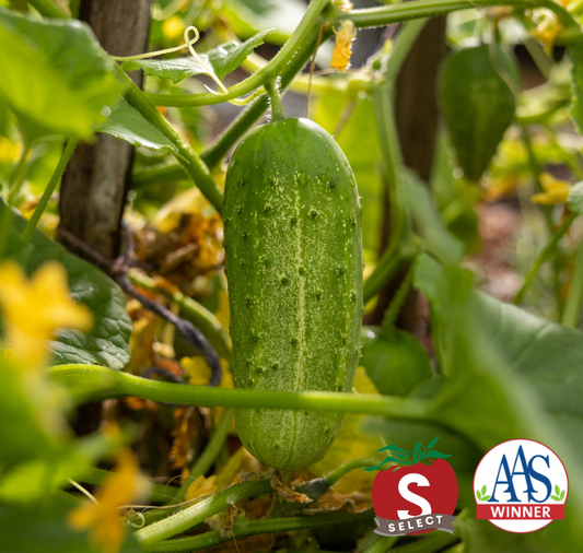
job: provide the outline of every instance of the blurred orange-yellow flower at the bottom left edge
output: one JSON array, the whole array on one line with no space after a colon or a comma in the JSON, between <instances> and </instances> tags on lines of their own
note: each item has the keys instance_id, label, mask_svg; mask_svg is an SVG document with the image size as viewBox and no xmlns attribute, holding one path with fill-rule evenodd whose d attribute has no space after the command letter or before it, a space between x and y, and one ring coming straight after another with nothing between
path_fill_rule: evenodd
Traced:
<instances>
[{"instance_id":1,"label":"blurred orange-yellow flower at the bottom left edge","mask_svg":"<svg viewBox=\"0 0 583 553\"><path fill-rule=\"evenodd\" d=\"M103 553L117 553L126 537L120 507L128 505L143 489L138 460L133 452L119 454L116 471L103 483L95 502L88 501L69 514L69 525L75 530L90 530L90 541Z\"/></svg>"}]
</instances>

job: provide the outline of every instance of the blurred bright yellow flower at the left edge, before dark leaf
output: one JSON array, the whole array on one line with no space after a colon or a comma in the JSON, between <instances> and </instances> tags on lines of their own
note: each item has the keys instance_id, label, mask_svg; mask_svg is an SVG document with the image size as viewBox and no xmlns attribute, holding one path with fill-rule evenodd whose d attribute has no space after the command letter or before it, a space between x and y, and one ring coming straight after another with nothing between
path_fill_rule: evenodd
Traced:
<instances>
[{"instance_id":1,"label":"blurred bright yellow flower at the left edge, before dark leaf","mask_svg":"<svg viewBox=\"0 0 583 553\"><path fill-rule=\"evenodd\" d=\"M0 264L0 306L7 340L19 361L38 367L46 361L46 343L58 328L89 330L93 316L72 302L67 272L49 261L27 280L13 261Z\"/></svg>"}]
</instances>

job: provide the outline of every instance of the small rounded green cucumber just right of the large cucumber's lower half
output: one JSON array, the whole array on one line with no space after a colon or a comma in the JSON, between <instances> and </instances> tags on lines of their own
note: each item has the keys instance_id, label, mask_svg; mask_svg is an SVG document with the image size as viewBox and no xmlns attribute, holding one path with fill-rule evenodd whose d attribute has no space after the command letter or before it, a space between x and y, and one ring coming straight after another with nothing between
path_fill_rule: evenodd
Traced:
<instances>
[{"instance_id":1,"label":"small rounded green cucumber just right of the large cucumber's lower half","mask_svg":"<svg viewBox=\"0 0 583 553\"><path fill-rule=\"evenodd\" d=\"M433 375L425 350L400 329L387 334L378 327L363 327L360 364L384 396L408 396Z\"/></svg>"}]
</instances>

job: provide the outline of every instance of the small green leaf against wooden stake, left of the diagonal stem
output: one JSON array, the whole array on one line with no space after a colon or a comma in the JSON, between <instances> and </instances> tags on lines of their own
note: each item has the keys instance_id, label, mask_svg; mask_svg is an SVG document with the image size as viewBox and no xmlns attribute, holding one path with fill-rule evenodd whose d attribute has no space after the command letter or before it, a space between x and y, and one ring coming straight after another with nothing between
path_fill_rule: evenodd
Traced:
<instances>
[{"instance_id":1,"label":"small green leaf against wooden stake, left of the diagonal stem","mask_svg":"<svg viewBox=\"0 0 583 553\"><path fill-rule=\"evenodd\" d=\"M118 102L104 125L96 129L135 146L177 155L178 149L125 99Z\"/></svg>"}]
</instances>

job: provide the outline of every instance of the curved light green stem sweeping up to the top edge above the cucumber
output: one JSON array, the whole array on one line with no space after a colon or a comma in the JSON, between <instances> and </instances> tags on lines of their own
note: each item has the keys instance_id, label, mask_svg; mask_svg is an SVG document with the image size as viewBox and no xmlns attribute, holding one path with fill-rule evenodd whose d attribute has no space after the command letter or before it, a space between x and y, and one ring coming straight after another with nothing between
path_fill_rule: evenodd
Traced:
<instances>
[{"instance_id":1,"label":"curved light green stem sweeping up to the top edge above the cucumber","mask_svg":"<svg viewBox=\"0 0 583 553\"><path fill-rule=\"evenodd\" d=\"M302 44L310 40L310 35L313 34L313 30L317 28L319 31L322 25L316 25L316 22L328 2L329 0L312 0L302 21L273 59L248 79L229 87L229 94L206 93L186 94L182 96L175 96L173 94L148 94L148 98L156 106L186 107L222 104L228 99L238 98L245 94L249 94L259 86L277 79L283 72L289 61L295 56L296 50Z\"/></svg>"}]
</instances>

